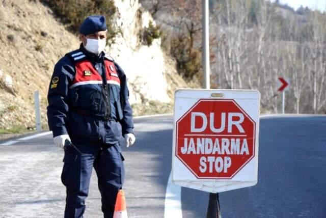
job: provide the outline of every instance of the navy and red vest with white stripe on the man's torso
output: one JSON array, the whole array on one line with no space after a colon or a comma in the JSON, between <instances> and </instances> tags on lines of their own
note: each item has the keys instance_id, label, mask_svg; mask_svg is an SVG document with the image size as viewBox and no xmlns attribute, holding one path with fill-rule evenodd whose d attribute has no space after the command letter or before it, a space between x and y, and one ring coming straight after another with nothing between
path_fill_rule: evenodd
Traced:
<instances>
[{"instance_id":1,"label":"navy and red vest with white stripe on the man's torso","mask_svg":"<svg viewBox=\"0 0 326 218\"><path fill-rule=\"evenodd\" d=\"M111 57L105 56L105 77L102 77L78 49L67 54L75 65L75 75L69 89L69 106L78 114L103 120L123 118L120 78Z\"/></svg>"}]
</instances>

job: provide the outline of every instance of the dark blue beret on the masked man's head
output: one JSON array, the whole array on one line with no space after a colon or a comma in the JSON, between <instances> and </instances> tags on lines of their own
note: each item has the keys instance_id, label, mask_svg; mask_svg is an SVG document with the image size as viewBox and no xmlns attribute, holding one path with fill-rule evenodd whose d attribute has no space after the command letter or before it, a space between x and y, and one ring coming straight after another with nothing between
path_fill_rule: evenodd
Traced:
<instances>
[{"instance_id":1,"label":"dark blue beret on the masked man's head","mask_svg":"<svg viewBox=\"0 0 326 218\"><path fill-rule=\"evenodd\" d=\"M82 25L80 25L79 33L86 36L104 30L106 30L104 16L89 16L84 20Z\"/></svg>"}]
</instances>

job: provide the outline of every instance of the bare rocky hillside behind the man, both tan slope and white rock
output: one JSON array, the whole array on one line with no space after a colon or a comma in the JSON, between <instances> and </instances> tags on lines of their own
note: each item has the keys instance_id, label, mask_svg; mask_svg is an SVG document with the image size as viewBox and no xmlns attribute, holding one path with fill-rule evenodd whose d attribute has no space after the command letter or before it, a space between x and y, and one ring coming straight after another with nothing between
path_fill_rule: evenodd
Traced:
<instances>
[{"instance_id":1,"label":"bare rocky hillside behind the man, both tan slope and white rock","mask_svg":"<svg viewBox=\"0 0 326 218\"><path fill-rule=\"evenodd\" d=\"M115 1L116 25L121 34L106 50L129 78L131 103L171 102L173 90L186 84L177 75L173 60L160 49L160 39L151 46L140 43L139 31L152 17L137 0L131 2ZM0 28L0 129L34 128L35 90L40 91L42 123L46 127L46 94L53 66L79 46L78 37L35 0L1 1Z\"/></svg>"}]
</instances>

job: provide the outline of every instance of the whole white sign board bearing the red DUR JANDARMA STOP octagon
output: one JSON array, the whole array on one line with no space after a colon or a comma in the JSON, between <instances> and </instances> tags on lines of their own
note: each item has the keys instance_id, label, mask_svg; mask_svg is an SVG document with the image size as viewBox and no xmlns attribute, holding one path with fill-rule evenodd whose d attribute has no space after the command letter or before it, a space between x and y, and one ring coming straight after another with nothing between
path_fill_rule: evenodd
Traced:
<instances>
[{"instance_id":1,"label":"whole white sign board bearing the red DUR JANDARMA STOP octagon","mask_svg":"<svg viewBox=\"0 0 326 218\"><path fill-rule=\"evenodd\" d=\"M255 185L259 107L256 90L177 90L173 183L211 193Z\"/></svg>"}]
</instances>

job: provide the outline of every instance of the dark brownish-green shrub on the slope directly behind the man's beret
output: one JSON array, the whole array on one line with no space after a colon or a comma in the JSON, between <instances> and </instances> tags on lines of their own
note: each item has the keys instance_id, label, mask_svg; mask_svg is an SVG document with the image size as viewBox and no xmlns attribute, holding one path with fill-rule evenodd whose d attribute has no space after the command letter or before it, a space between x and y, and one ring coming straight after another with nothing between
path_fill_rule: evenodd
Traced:
<instances>
[{"instance_id":1,"label":"dark brownish-green shrub on the slope directly behind the man's beret","mask_svg":"<svg viewBox=\"0 0 326 218\"><path fill-rule=\"evenodd\" d=\"M117 30L112 23L117 9L113 0L41 0L41 2L47 4L74 33L79 33L79 26L86 17L104 15L108 44L114 41Z\"/></svg>"}]
</instances>

